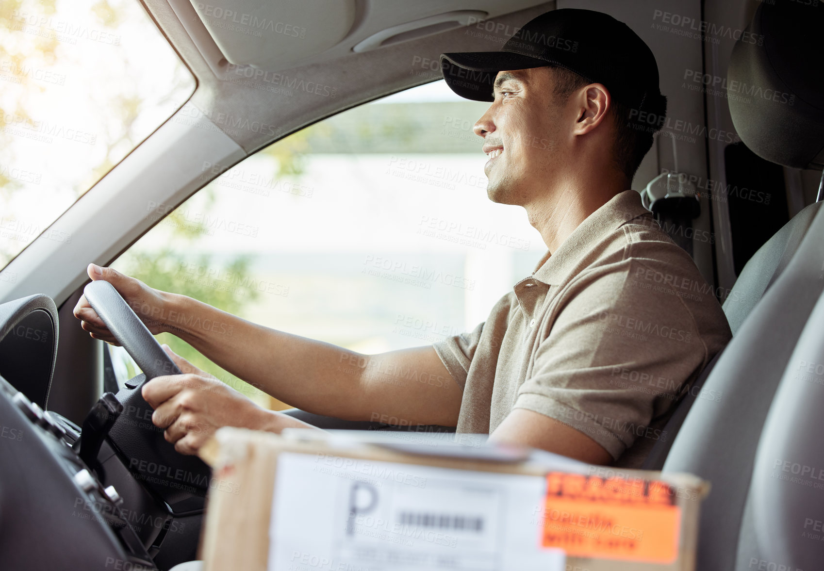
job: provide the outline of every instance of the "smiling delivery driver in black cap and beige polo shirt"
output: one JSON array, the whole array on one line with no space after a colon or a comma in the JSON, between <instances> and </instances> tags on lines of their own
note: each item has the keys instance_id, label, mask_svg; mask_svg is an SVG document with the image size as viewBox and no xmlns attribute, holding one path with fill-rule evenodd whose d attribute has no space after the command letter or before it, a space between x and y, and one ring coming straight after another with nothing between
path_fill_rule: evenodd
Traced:
<instances>
[{"instance_id":1,"label":"smiling delivery driver in black cap and beige polo shirt","mask_svg":"<svg viewBox=\"0 0 824 571\"><path fill-rule=\"evenodd\" d=\"M475 124L489 199L522 206L547 247L471 332L362 355L114 269L90 264L89 276L112 283L153 334L179 336L302 410L456 426L637 467L666 438L673 402L731 337L690 256L630 190L666 114L655 58L611 16L563 9L528 22L501 51L443 54L441 63L458 95L490 102ZM92 337L116 343L85 297L74 315ZM195 453L222 426L307 426L166 350L184 374L153 379L143 396L179 452Z\"/></svg>"}]
</instances>

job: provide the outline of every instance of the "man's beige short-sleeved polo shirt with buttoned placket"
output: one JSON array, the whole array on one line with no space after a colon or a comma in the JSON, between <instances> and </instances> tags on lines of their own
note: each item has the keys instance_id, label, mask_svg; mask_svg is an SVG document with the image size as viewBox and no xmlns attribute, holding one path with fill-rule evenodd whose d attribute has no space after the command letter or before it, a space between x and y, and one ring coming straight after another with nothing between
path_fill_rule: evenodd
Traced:
<instances>
[{"instance_id":1,"label":"man's beige short-sleeved polo shirt with buttoned placket","mask_svg":"<svg viewBox=\"0 0 824 571\"><path fill-rule=\"evenodd\" d=\"M732 337L713 289L626 190L592 213L471 333L434 348L463 387L460 433L513 409L587 434L636 467L671 405Z\"/></svg>"}]
</instances>

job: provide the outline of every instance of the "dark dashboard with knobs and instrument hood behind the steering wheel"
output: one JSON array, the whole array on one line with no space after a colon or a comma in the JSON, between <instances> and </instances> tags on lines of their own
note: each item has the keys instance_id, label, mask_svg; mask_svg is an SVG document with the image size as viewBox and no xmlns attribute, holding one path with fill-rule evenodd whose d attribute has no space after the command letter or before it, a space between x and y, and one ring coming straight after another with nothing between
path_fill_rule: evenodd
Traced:
<instances>
[{"instance_id":1,"label":"dark dashboard with knobs and instrument hood behind the steering wheel","mask_svg":"<svg viewBox=\"0 0 824 571\"><path fill-rule=\"evenodd\" d=\"M129 449L160 430L123 404L143 375L102 395L82 426L48 410L58 322L44 295L0 305L3 568L143 571L196 559L209 476L186 468L196 458L169 466Z\"/></svg>"}]
</instances>

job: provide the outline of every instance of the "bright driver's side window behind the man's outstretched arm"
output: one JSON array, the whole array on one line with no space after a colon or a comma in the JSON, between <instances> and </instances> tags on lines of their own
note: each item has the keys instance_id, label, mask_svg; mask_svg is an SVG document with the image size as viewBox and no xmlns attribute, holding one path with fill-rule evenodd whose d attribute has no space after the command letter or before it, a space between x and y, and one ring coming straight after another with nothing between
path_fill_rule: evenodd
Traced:
<instances>
[{"instance_id":1,"label":"bright driver's side window behind the man's outstretched arm","mask_svg":"<svg viewBox=\"0 0 824 571\"><path fill-rule=\"evenodd\" d=\"M472 131L487 105L435 82L335 115L218 176L113 265L361 353L471 330L545 252L522 208L487 198ZM161 337L260 404L287 406ZM135 368L113 357L122 382Z\"/></svg>"}]
</instances>

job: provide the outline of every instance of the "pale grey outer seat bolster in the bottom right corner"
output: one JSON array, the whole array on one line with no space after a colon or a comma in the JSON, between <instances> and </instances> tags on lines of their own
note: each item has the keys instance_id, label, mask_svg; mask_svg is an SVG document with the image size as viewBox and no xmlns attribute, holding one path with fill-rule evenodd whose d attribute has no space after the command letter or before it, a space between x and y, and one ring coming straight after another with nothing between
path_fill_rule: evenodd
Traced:
<instances>
[{"instance_id":1,"label":"pale grey outer seat bolster in the bottom right corner","mask_svg":"<svg viewBox=\"0 0 824 571\"><path fill-rule=\"evenodd\" d=\"M824 296L789 358L770 406L745 512L755 559L788 569L824 564ZM739 567L741 565L739 564Z\"/></svg>"}]
</instances>

